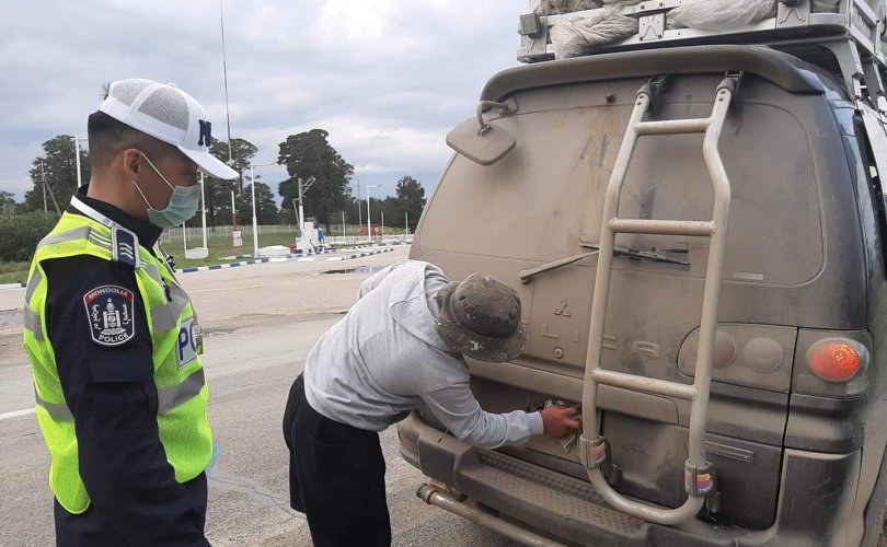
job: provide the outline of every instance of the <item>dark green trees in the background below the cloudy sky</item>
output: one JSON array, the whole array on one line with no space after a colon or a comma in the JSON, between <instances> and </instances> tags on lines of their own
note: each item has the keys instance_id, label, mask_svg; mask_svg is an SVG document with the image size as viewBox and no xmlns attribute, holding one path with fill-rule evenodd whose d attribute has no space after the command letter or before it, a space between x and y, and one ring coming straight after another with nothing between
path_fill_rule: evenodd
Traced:
<instances>
[{"instance_id":1,"label":"dark green trees in the background below the cloudy sky","mask_svg":"<svg viewBox=\"0 0 887 547\"><path fill-rule=\"evenodd\" d=\"M311 186L304 191L306 217L316 225L329 229L341 224L343 213L346 224L366 224L366 200L352 193L354 166L330 144L330 133L323 129L290 135L279 143L277 162L287 168L287 178L279 182L278 207L269 184L262 181L255 170L255 181L251 179L250 162L258 153L255 144L246 139L234 138L229 142L214 139L210 153L228 163L238 172L233 182L207 176L204 181L207 224L210 226L231 225L231 202L237 209L239 225L252 222L252 185L255 184L256 218L260 224L297 223L296 201L299 197L299 178L309 181ZM77 190L77 158L73 137L59 135L43 143L43 154L32 162L30 171L33 187L25 193L19 203L14 195L0 191L0 216L20 217L23 213L62 211ZM81 179L90 179L89 151L80 152ZM370 199L372 223L378 224L384 213L385 225L402 228L408 221L410 231L415 231L422 210L425 207L425 188L411 176L396 182L394 196L384 199ZM23 219L21 219L23 220Z\"/></svg>"}]
</instances>

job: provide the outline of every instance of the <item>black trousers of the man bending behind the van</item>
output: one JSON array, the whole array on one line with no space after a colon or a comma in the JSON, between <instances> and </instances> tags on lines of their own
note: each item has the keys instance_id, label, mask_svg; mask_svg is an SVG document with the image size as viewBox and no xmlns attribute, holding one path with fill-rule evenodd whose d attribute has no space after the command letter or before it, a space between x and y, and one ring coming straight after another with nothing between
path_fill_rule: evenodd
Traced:
<instances>
[{"instance_id":1,"label":"black trousers of the man bending behind the van","mask_svg":"<svg viewBox=\"0 0 887 547\"><path fill-rule=\"evenodd\" d=\"M318 414L299 376L284 412L284 439L290 505L308 517L315 547L391 545L378 433Z\"/></svg>"}]
</instances>

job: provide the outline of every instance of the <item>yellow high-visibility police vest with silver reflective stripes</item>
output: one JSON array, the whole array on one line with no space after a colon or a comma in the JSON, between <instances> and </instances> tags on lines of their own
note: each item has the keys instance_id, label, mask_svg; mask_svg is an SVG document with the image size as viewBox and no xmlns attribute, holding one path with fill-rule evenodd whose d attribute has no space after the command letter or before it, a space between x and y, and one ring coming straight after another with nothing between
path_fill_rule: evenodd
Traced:
<instances>
[{"instance_id":1,"label":"yellow high-visibility police vest with silver reflective stripes","mask_svg":"<svg viewBox=\"0 0 887 547\"><path fill-rule=\"evenodd\" d=\"M34 373L35 414L51 455L49 486L65 510L80 514L89 509L90 497L80 478L74 418L65 401L56 368L56 353L65 348L55 348L46 336L44 260L91 255L135 268L151 334L160 441L175 470L176 481L187 482L206 469L212 457L212 432L207 417L209 392L200 361L203 348L197 316L170 266L158 258L165 255L159 246L154 247L158 256L141 247L136 234L77 196L71 205L85 216L62 214L37 246L31 263L25 292L24 345ZM100 309L101 296L95 295L94 337L107 346L115 345L115 340L126 341L126 329L119 328L119 323L128 317L120 319L119 310L113 310L112 299L104 299L111 310ZM105 312L110 315L103 316Z\"/></svg>"}]
</instances>

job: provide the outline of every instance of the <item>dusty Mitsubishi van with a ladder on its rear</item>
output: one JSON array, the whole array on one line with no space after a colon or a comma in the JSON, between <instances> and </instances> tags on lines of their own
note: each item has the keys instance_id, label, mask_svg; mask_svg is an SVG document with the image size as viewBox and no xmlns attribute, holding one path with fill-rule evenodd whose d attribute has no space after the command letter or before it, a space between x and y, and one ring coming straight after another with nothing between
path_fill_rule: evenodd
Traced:
<instances>
[{"instance_id":1,"label":"dusty Mitsubishi van with a ladder on its rear","mask_svg":"<svg viewBox=\"0 0 887 547\"><path fill-rule=\"evenodd\" d=\"M521 295L523 354L468 362L482 406L576 405L584 432L477 450L414 412L418 493L529 545L876 545L884 12L693 28L669 19L692 1L625 3L521 19L530 62L449 135L411 254ZM609 14L634 34L586 39Z\"/></svg>"}]
</instances>

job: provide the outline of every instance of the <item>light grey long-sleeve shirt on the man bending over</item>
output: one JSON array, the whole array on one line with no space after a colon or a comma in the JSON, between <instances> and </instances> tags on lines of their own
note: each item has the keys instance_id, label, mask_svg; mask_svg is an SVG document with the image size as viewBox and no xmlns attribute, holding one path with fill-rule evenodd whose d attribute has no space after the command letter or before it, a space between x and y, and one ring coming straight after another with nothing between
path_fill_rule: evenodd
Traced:
<instances>
[{"instance_id":1,"label":"light grey long-sleeve shirt on the man bending over","mask_svg":"<svg viewBox=\"0 0 887 547\"><path fill-rule=\"evenodd\" d=\"M308 357L306 396L323 416L382 431L422 406L457 438L480 447L526 442L543 433L540 412L489 414L469 387L469 371L437 335L436 266L402 260L360 287L357 303Z\"/></svg>"}]
</instances>

